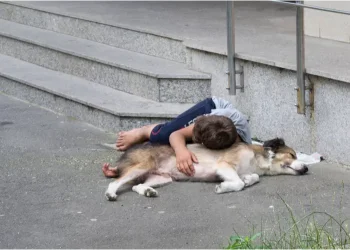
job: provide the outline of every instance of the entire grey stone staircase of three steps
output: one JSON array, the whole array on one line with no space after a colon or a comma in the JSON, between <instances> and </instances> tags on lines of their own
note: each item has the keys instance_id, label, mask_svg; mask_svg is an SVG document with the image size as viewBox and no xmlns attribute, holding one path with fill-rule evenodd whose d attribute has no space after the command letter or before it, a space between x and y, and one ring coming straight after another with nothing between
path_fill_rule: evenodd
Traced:
<instances>
[{"instance_id":1,"label":"entire grey stone staircase of three steps","mask_svg":"<svg viewBox=\"0 0 350 250\"><path fill-rule=\"evenodd\" d=\"M5 94L109 131L163 122L211 94L210 75L187 68L179 41L10 3L0 9Z\"/></svg>"}]
</instances>

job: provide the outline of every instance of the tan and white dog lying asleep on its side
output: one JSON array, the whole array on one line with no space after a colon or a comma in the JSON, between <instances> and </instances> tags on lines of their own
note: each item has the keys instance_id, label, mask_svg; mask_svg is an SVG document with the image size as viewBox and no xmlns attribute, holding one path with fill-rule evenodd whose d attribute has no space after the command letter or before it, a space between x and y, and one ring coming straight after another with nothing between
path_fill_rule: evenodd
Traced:
<instances>
[{"instance_id":1,"label":"tan and white dog lying asleep on its side","mask_svg":"<svg viewBox=\"0 0 350 250\"><path fill-rule=\"evenodd\" d=\"M188 149L198 159L195 174L187 176L177 170L174 150L164 145L140 145L129 149L117 161L114 170L119 178L109 184L106 197L117 199L118 189L134 181L132 190L147 197L155 197L154 189L172 181L221 181L215 192L240 191L259 181L261 175L302 175L308 171L297 160L295 151L283 139L273 139L260 145L234 144L224 150L210 150L200 144L189 144ZM109 165L105 165L108 167Z\"/></svg>"}]
</instances>

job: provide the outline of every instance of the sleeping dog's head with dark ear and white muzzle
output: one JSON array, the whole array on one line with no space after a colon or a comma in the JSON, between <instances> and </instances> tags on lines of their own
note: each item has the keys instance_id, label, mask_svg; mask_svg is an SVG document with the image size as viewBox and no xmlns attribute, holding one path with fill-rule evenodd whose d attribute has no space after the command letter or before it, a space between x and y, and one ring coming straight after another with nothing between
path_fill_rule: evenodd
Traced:
<instances>
[{"instance_id":1,"label":"sleeping dog's head with dark ear and white muzzle","mask_svg":"<svg viewBox=\"0 0 350 250\"><path fill-rule=\"evenodd\" d=\"M286 146L283 139L266 141L263 147L271 161L269 174L303 175L308 171L307 166L297 160L296 152Z\"/></svg>"}]
</instances>

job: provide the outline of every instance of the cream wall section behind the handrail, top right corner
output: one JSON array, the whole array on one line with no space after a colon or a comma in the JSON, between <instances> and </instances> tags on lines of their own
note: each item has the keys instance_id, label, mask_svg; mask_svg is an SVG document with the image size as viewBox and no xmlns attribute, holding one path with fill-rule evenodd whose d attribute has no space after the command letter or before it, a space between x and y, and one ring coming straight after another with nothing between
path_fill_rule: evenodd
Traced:
<instances>
[{"instance_id":1,"label":"cream wall section behind the handrail, top right corner","mask_svg":"<svg viewBox=\"0 0 350 250\"><path fill-rule=\"evenodd\" d=\"M350 11L348 1L305 1L305 4ZM350 16L305 8L305 34L350 43Z\"/></svg>"}]
</instances>

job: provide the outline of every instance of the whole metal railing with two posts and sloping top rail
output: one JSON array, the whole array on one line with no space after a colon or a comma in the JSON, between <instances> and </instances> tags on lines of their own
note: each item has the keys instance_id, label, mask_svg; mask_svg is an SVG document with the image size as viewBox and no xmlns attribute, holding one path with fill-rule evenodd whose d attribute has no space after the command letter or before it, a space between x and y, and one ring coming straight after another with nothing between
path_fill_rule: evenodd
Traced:
<instances>
[{"instance_id":1,"label":"whole metal railing with two posts and sloping top rail","mask_svg":"<svg viewBox=\"0 0 350 250\"><path fill-rule=\"evenodd\" d=\"M350 15L349 11L341 11L331 8L322 8L313 5L304 4L304 1L296 1L295 3L285 2L281 0L270 0L274 3L292 5L296 7L296 57L297 57L297 107L298 114L305 114L306 106L313 106L313 103L305 104L305 90L310 91L310 101L313 100L313 86L305 86L305 34L304 34L304 8L333 12L337 14ZM228 90L230 95L236 95L236 89L244 89L243 68L239 72L235 69L235 40L234 40L234 14L233 1L227 1L227 55L228 55L228 74L229 85ZM241 85L236 85L236 74L241 74ZM310 83L312 84L312 83Z\"/></svg>"}]
</instances>

